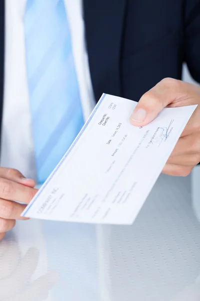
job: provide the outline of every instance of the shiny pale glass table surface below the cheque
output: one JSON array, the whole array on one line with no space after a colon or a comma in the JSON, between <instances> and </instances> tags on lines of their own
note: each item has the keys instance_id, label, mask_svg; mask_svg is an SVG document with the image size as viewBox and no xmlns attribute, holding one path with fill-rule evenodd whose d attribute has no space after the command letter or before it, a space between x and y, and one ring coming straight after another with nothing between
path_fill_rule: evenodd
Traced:
<instances>
[{"instance_id":1,"label":"shiny pale glass table surface below the cheque","mask_svg":"<svg viewBox=\"0 0 200 301\"><path fill-rule=\"evenodd\" d=\"M132 226L17 222L0 242L0 301L200 300L197 172L161 175Z\"/></svg>"}]
</instances>

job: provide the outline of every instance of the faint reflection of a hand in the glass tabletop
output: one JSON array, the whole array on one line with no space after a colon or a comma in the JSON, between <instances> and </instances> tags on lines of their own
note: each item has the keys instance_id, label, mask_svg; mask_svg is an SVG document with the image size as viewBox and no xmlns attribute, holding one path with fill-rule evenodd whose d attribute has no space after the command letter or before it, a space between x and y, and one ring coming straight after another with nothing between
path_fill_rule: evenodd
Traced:
<instances>
[{"instance_id":1,"label":"faint reflection of a hand in the glass tabletop","mask_svg":"<svg viewBox=\"0 0 200 301\"><path fill-rule=\"evenodd\" d=\"M46 300L58 275L49 271L31 281L39 260L36 248L29 248L22 256L16 241L3 240L0 242L0 257L0 301Z\"/></svg>"}]
</instances>

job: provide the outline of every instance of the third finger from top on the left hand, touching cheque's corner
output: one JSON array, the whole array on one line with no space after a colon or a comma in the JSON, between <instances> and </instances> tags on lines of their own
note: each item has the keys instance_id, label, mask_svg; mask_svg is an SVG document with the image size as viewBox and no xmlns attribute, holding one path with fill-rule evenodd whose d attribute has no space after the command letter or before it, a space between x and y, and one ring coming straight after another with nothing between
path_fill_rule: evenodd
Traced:
<instances>
[{"instance_id":1,"label":"third finger from top on the left hand, touching cheque's corner","mask_svg":"<svg viewBox=\"0 0 200 301\"><path fill-rule=\"evenodd\" d=\"M0 218L26 220L27 218L20 216L25 207L23 204L0 199Z\"/></svg>"}]
</instances>

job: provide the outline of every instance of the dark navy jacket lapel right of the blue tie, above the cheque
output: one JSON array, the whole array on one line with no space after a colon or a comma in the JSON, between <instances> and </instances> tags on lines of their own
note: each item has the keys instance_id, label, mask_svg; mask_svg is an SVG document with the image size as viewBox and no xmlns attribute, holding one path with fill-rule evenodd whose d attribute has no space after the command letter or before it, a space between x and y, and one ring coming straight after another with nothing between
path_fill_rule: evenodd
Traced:
<instances>
[{"instance_id":1,"label":"dark navy jacket lapel right of the blue tie, above the cheque","mask_svg":"<svg viewBox=\"0 0 200 301\"><path fill-rule=\"evenodd\" d=\"M91 81L102 93L121 95L120 51L126 0L83 0Z\"/></svg>"}]
</instances>

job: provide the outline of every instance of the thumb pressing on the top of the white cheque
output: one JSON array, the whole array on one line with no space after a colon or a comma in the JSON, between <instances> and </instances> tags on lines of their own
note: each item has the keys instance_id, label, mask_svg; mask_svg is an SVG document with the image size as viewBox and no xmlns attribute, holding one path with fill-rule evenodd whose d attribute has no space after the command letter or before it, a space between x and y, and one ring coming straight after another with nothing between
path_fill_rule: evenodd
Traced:
<instances>
[{"instance_id":1,"label":"thumb pressing on the top of the white cheque","mask_svg":"<svg viewBox=\"0 0 200 301\"><path fill-rule=\"evenodd\" d=\"M130 116L130 123L135 126L148 124L165 106L179 98L182 90L182 82L179 80L161 80L140 98Z\"/></svg>"}]
</instances>

